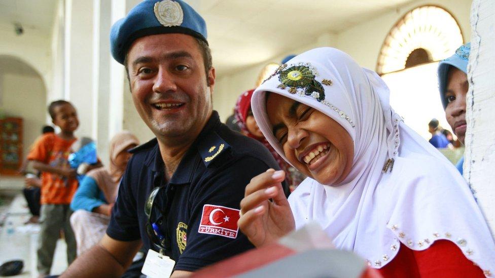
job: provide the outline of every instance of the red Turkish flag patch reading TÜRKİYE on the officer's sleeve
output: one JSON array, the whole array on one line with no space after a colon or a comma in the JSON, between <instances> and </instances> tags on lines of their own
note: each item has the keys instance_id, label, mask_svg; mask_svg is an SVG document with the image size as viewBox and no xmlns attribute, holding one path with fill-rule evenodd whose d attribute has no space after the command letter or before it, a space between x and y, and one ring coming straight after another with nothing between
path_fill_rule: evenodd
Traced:
<instances>
[{"instance_id":1,"label":"red Turkish flag patch reading T\u00dcRK\u0130YE on the officer's sleeve","mask_svg":"<svg viewBox=\"0 0 495 278\"><path fill-rule=\"evenodd\" d=\"M223 206L204 205L198 232L235 239L239 232L237 220L239 220L239 210Z\"/></svg>"}]
</instances>

